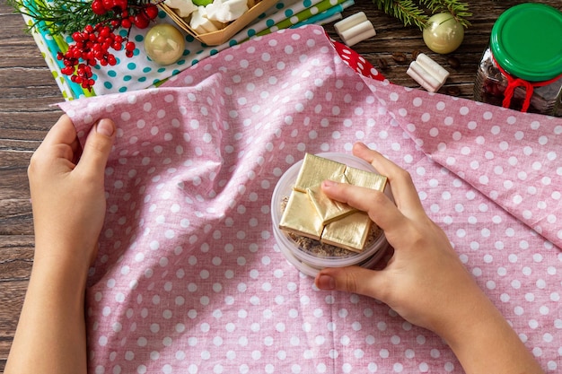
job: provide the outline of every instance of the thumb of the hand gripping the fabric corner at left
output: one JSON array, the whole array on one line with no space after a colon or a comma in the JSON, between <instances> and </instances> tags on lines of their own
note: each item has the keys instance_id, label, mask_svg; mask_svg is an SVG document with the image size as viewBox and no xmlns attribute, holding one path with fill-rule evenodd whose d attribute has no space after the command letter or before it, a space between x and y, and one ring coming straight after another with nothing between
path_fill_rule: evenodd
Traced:
<instances>
[{"instance_id":1,"label":"thumb of the hand gripping the fabric corner at left","mask_svg":"<svg viewBox=\"0 0 562 374\"><path fill-rule=\"evenodd\" d=\"M92 127L86 138L78 167L85 168L94 174L103 174L114 138L115 123L108 118L101 119Z\"/></svg>"}]
</instances>

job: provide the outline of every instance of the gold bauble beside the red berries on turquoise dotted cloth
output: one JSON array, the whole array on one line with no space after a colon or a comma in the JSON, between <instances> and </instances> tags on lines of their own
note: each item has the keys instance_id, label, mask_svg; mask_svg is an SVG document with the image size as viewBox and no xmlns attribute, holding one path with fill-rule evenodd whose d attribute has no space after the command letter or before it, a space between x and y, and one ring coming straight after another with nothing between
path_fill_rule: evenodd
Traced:
<instances>
[{"instance_id":1,"label":"gold bauble beside the red berries on turquoise dotted cloth","mask_svg":"<svg viewBox=\"0 0 562 374\"><path fill-rule=\"evenodd\" d=\"M145 52L156 64L171 65L183 56L185 38L170 23L160 23L148 30Z\"/></svg>"}]
</instances>

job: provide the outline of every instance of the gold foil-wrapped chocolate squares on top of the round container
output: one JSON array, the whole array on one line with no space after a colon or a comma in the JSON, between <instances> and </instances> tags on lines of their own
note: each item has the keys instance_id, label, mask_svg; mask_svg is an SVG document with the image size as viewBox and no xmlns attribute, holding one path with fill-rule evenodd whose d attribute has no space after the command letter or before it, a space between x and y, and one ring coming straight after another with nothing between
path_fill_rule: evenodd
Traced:
<instances>
[{"instance_id":1,"label":"gold foil-wrapped chocolate squares on top of the round container","mask_svg":"<svg viewBox=\"0 0 562 374\"><path fill-rule=\"evenodd\" d=\"M279 228L361 252L373 222L366 213L326 196L321 190L321 182L326 179L379 191L387 182L382 175L306 153Z\"/></svg>"}]
</instances>

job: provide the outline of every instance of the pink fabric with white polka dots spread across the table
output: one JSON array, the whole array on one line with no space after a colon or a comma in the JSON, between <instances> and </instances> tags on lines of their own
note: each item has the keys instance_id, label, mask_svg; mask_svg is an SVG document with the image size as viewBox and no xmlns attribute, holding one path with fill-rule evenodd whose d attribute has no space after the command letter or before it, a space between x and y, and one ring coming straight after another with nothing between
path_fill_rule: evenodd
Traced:
<instances>
[{"instance_id":1,"label":"pink fabric with white polka dots spread across the table","mask_svg":"<svg viewBox=\"0 0 562 374\"><path fill-rule=\"evenodd\" d=\"M461 373L438 336L319 291L277 247L277 180L304 152L357 141L411 173L479 285L562 370L560 118L357 74L317 26L61 108L82 139L101 117L119 126L87 291L90 372Z\"/></svg>"}]
</instances>

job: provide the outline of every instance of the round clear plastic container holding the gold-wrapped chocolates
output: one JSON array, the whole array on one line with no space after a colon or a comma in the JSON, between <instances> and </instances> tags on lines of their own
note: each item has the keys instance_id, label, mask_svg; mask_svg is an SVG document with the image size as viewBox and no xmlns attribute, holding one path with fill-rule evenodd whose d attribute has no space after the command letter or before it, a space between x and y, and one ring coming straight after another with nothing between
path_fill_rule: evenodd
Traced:
<instances>
[{"instance_id":1,"label":"round clear plastic container holding the gold-wrapped chocolates","mask_svg":"<svg viewBox=\"0 0 562 374\"><path fill-rule=\"evenodd\" d=\"M317 156L338 161L356 169L376 172L373 166L366 161L356 158L346 153L319 153ZM387 253L389 248L384 232L379 230L373 241L361 253L341 249L338 256L318 256L306 248L300 248L296 241L284 230L279 229L279 222L283 215L283 200L290 196L293 190L294 181L298 176L303 161L296 162L292 167L285 171L285 174L279 178L277 186L271 197L271 221L273 224L274 238L281 253L287 261L299 269L303 274L315 276L324 267L341 267L347 265L361 265L363 267L372 268ZM384 193L391 196L391 189L387 185Z\"/></svg>"}]
</instances>

